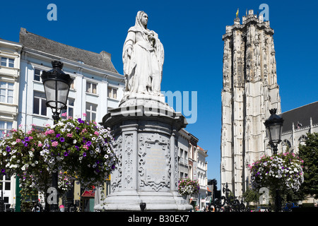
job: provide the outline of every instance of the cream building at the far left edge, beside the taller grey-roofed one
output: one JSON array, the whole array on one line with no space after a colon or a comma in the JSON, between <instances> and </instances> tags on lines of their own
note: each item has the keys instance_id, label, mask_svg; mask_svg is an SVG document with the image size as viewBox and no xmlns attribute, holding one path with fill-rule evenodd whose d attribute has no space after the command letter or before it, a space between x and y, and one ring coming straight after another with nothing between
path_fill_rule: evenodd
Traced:
<instances>
[{"instance_id":1,"label":"cream building at the far left edge, beside the taller grey-roofed one","mask_svg":"<svg viewBox=\"0 0 318 226\"><path fill-rule=\"evenodd\" d=\"M16 129L18 125L18 97L20 82L20 53L22 45L0 39L0 137ZM16 179L0 177L0 196L6 207L13 203L16 196Z\"/></svg>"}]
</instances>

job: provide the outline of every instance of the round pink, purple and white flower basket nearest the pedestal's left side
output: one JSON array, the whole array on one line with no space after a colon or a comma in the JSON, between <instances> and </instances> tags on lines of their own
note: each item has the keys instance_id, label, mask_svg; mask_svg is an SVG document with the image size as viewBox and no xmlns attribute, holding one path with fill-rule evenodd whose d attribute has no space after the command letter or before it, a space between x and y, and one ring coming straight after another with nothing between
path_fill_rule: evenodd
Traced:
<instances>
[{"instance_id":1,"label":"round pink, purple and white flower basket nearest the pedestal's left side","mask_svg":"<svg viewBox=\"0 0 318 226\"><path fill-rule=\"evenodd\" d=\"M40 155L52 172L67 172L82 186L102 185L117 164L110 129L92 121L62 119L45 131Z\"/></svg>"}]
</instances>

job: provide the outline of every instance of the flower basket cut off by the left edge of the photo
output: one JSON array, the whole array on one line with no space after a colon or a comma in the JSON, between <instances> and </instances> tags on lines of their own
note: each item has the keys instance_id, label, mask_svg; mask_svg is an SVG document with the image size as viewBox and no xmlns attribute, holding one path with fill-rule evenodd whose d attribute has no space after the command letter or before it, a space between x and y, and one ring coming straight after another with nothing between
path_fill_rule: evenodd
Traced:
<instances>
[{"instance_id":1,"label":"flower basket cut off by the left edge of the photo","mask_svg":"<svg viewBox=\"0 0 318 226\"><path fill-rule=\"evenodd\" d=\"M40 156L45 134L32 125L30 131L12 129L0 141L0 175L19 177L21 194L46 191L52 186L47 164Z\"/></svg>"}]
</instances>

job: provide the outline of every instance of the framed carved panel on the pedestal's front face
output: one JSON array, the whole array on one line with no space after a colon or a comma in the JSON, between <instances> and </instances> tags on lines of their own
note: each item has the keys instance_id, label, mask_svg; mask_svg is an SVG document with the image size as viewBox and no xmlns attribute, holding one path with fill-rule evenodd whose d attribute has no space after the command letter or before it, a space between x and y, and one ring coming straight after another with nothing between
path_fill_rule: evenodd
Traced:
<instances>
[{"instance_id":1,"label":"framed carved panel on the pedestal's front face","mask_svg":"<svg viewBox=\"0 0 318 226\"><path fill-rule=\"evenodd\" d=\"M139 133L139 187L143 191L169 191L170 139L159 133Z\"/></svg>"}]
</instances>

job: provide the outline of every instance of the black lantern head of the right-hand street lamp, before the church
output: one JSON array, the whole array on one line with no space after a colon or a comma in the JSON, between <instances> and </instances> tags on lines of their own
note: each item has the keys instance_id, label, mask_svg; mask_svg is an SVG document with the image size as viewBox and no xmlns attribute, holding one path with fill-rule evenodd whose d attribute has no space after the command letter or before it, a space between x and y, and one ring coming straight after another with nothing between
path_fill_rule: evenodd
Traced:
<instances>
[{"instance_id":1,"label":"black lantern head of the right-hand street lamp, before the church","mask_svg":"<svg viewBox=\"0 0 318 226\"><path fill-rule=\"evenodd\" d=\"M283 129L284 119L276 114L276 108L270 109L269 112L271 116L267 119L264 124L267 131L267 136L269 137L269 144L273 148L273 154L277 154L278 143L281 142L281 131Z\"/></svg>"}]
</instances>

